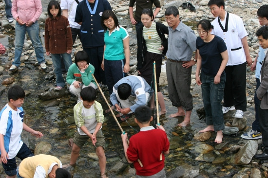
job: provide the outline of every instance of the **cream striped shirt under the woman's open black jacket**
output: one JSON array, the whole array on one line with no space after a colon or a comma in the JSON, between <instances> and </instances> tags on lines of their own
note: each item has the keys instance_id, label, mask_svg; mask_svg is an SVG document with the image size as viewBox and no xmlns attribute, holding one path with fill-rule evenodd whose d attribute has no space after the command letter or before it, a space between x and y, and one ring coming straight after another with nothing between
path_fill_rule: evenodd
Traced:
<instances>
[{"instance_id":1,"label":"cream striped shirt under the woman's open black jacket","mask_svg":"<svg viewBox=\"0 0 268 178\"><path fill-rule=\"evenodd\" d=\"M162 54L162 51L158 50L158 48L161 48L162 46L162 41L156 31L156 25L154 21L152 22L150 28L146 28L145 26L143 26L142 35L145 40L148 52Z\"/></svg>"}]
</instances>

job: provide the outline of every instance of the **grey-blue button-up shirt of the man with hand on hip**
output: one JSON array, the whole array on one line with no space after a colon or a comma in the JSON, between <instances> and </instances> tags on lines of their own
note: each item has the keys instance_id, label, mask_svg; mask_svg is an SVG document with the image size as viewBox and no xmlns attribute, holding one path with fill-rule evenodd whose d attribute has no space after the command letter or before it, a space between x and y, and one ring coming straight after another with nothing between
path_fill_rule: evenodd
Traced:
<instances>
[{"instance_id":1,"label":"grey-blue button-up shirt of the man with hand on hip","mask_svg":"<svg viewBox=\"0 0 268 178\"><path fill-rule=\"evenodd\" d=\"M173 30L169 27L169 45L167 58L177 61L190 61L192 52L196 50L196 36L190 27L180 21Z\"/></svg>"}]
</instances>

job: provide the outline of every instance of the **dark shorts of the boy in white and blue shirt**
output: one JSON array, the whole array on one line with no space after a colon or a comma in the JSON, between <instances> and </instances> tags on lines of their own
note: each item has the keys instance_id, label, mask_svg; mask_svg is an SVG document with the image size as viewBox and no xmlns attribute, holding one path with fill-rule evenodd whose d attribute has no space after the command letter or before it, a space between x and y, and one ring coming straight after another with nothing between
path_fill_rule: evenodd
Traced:
<instances>
[{"instance_id":1,"label":"dark shorts of the boy in white and blue shirt","mask_svg":"<svg viewBox=\"0 0 268 178\"><path fill-rule=\"evenodd\" d=\"M24 160L25 158L32 157L32 156L34 156L34 154L31 152L31 150L28 148L28 146L25 143L22 144L21 148L19 149L19 152L16 155L16 157L18 157L20 160ZM7 160L6 164L2 162L2 166L4 168L5 174L8 176L14 176L17 174L16 157L10 160Z\"/></svg>"}]
</instances>

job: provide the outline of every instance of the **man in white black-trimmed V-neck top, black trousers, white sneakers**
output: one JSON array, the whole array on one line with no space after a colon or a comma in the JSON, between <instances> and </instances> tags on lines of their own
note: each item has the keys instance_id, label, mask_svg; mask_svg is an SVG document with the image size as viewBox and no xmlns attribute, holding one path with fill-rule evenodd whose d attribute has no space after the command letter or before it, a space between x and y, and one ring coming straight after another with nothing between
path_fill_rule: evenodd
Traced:
<instances>
[{"instance_id":1,"label":"man in white black-trimmed V-neck top, black trousers, white sneakers","mask_svg":"<svg viewBox=\"0 0 268 178\"><path fill-rule=\"evenodd\" d=\"M210 0L208 6L216 17L212 21L211 34L220 36L228 50L229 60L225 68L223 113L236 109L235 118L243 118L247 110L246 67L252 64L247 41L248 33L240 17L225 11L224 0Z\"/></svg>"}]
</instances>

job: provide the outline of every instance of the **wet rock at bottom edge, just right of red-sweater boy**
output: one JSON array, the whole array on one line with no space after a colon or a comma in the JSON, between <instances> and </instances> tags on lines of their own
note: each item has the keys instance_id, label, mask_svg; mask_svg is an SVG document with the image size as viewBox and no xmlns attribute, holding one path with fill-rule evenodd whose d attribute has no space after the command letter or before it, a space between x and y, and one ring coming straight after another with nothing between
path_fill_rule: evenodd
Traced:
<instances>
[{"instance_id":1,"label":"wet rock at bottom edge, just right of red-sweater boy","mask_svg":"<svg viewBox=\"0 0 268 178\"><path fill-rule=\"evenodd\" d=\"M183 164L166 174L167 178L194 178L199 175L199 168Z\"/></svg>"}]
</instances>

